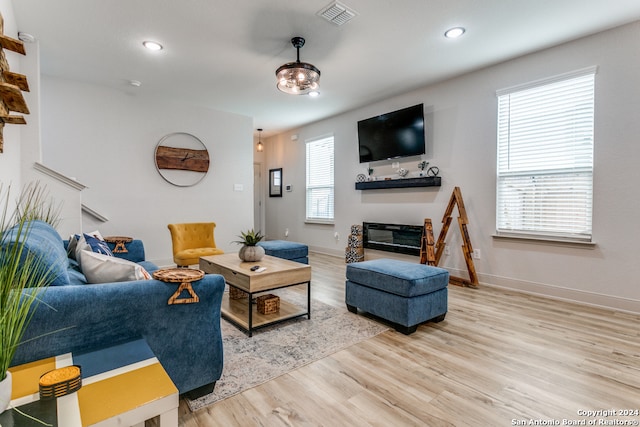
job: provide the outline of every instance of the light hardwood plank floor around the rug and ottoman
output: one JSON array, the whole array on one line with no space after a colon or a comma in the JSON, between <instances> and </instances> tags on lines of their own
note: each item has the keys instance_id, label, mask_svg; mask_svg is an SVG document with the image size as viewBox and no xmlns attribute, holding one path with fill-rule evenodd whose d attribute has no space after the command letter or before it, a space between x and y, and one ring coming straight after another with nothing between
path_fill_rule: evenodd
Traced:
<instances>
[{"instance_id":1,"label":"light hardwood plank floor around the rug and ottoman","mask_svg":"<svg viewBox=\"0 0 640 427\"><path fill-rule=\"evenodd\" d=\"M313 297L346 310L344 261L310 264ZM588 425L603 417L579 411L640 410L639 331L636 315L450 286L443 322L389 330L198 412L181 401L180 425Z\"/></svg>"}]
</instances>

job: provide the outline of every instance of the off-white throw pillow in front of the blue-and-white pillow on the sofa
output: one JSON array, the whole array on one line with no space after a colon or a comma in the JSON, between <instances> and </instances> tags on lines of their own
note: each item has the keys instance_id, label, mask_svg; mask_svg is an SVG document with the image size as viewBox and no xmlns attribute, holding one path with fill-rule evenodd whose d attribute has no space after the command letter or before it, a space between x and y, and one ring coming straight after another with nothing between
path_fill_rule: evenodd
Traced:
<instances>
[{"instance_id":1,"label":"off-white throw pillow in front of the blue-and-white pillow on the sofa","mask_svg":"<svg viewBox=\"0 0 640 427\"><path fill-rule=\"evenodd\" d=\"M127 282L148 280L151 275L139 264L126 259L92 252L82 251L82 273L88 283Z\"/></svg>"}]
</instances>

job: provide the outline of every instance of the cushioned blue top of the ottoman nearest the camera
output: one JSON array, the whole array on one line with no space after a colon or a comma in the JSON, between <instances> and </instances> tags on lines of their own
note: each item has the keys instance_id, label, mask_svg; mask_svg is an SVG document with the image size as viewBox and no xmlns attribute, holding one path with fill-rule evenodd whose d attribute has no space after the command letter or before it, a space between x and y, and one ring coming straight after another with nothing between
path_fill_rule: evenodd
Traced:
<instances>
[{"instance_id":1,"label":"cushioned blue top of the ottoman nearest the camera","mask_svg":"<svg viewBox=\"0 0 640 427\"><path fill-rule=\"evenodd\" d=\"M449 272L424 264L374 259L348 264L347 279L403 297L414 297L446 288Z\"/></svg>"}]
</instances>

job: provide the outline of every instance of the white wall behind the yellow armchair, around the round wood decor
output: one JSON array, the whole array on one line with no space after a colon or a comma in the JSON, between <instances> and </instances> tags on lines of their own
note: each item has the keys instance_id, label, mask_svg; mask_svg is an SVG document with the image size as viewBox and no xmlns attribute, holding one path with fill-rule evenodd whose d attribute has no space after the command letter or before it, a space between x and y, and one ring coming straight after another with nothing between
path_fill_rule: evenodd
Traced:
<instances>
[{"instance_id":1,"label":"white wall behind the yellow armchair, around the round wood decor","mask_svg":"<svg viewBox=\"0 0 640 427\"><path fill-rule=\"evenodd\" d=\"M168 265L167 224L214 221L217 246L238 250L231 242L253 227L251 118L49 76L41 86L43 162L87 185L82 202L109 219L85 215L83 231L142 239L147 259ZM155 168L155 146L173 132L209 150L209 172L195 186L173 186Z\"/></svg>"}]
</instances>

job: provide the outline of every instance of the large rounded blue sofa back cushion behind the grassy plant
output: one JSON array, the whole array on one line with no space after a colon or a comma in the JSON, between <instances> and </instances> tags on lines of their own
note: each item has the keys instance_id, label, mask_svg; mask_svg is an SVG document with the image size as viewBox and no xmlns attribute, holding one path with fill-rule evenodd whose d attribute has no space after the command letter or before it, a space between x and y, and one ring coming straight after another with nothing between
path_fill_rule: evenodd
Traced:
<instances>
[{"instance_id":1,"label":"large rounded blue sofa back cushion behind the grassy plant","mask_svg":"<svg viewBox=\"0 0 640 427\"><path fill-rule=\"evenodd\" d=\"M26 232L28 235L25 235ZM49 266L52 278L49 285L69 284L67 252L64 249L62 238L53 227L43 221L31 221L28 230L23 228L20 236L18 236L17 226L13 227L2 236L1 245L5 248L8 244L16 243L18 238L24 242L23 260L30 253Z\"/></svg>"}]
</instances>

